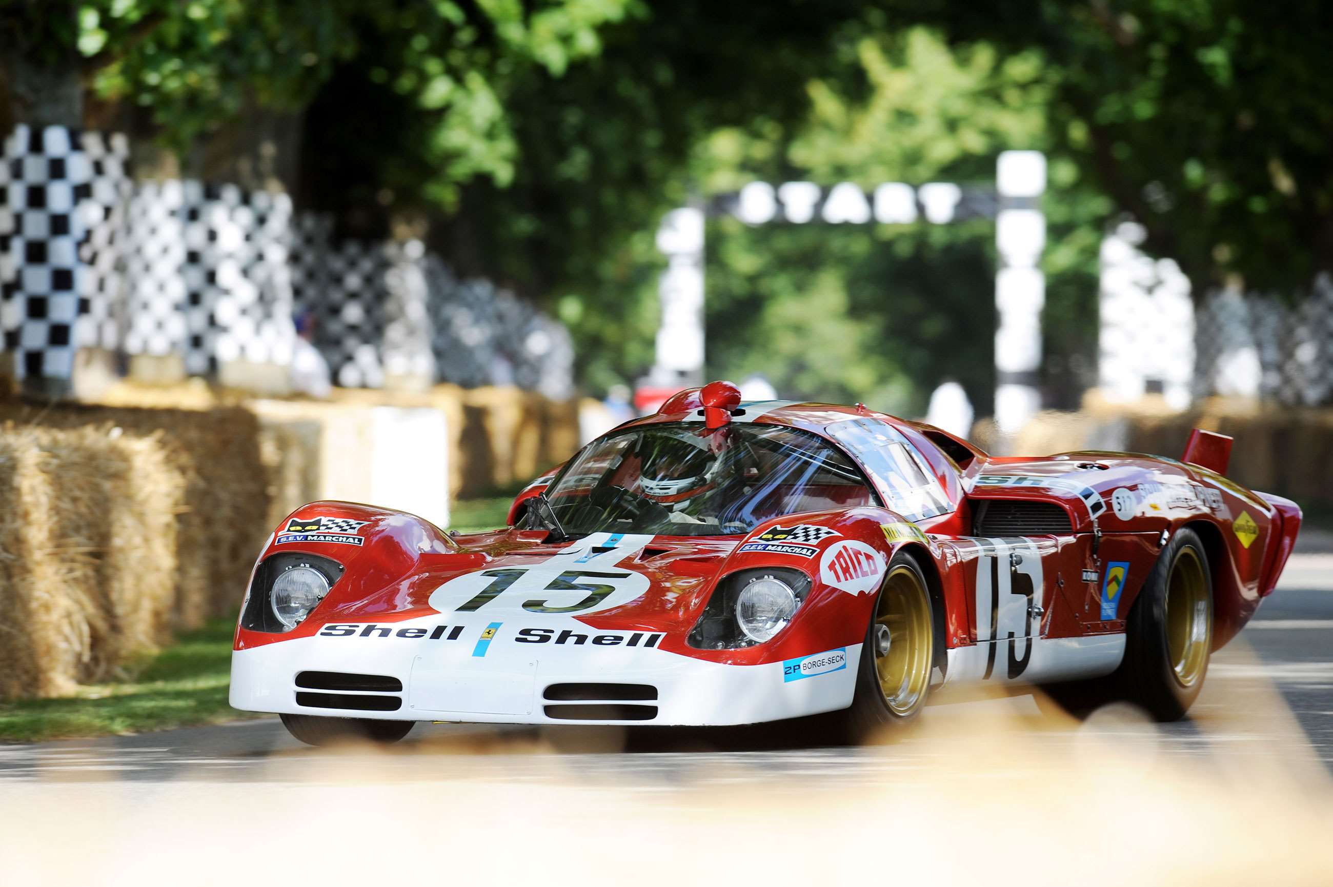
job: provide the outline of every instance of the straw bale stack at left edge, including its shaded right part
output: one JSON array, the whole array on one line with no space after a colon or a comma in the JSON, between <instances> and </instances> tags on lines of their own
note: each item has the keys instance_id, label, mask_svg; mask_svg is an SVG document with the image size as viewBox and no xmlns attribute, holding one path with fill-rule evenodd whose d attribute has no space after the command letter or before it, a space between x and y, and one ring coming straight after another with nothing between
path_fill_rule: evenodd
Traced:
<instances>
[{"instance_id":1,"label":"straw bale stack at left edge, including its shaded right part","mask_svg":"<svg viewBox=\"0 0 1333 887\"><path fill-rule=\"evenodd\" d=\"M253 413L0 407L0 696L232 612L268 520Z\"/></svg>"}]
</instances>

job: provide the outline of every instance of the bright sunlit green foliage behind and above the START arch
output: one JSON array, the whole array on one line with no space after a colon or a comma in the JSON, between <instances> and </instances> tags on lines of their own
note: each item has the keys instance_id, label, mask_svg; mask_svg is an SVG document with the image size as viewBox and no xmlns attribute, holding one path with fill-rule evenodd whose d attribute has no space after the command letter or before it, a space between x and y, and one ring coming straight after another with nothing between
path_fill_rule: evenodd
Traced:
<instances>
[{"instance_id":1,"label":"bright sunlit green foliage behind and above the START arch","mask_svg":"<svg viewBox=\"0 0 1333 887\"><path fill-rule=\"evenodd\" d=\"M1052 87L1034 52L950 51L925 29L854 41L860 76L816 79L789 135L717 132L696 169L709 191L753 179L832 184L990 183L1008 148L1046 148ZM868 89L849 91L846 83ZM1069 164L1052 171L1048 367L1053 401L1086 380L1096 339L1096 256L1105 201ZM960 381L981 413L994 387L994 227L712 225L709 376L762 372L784 396L865 400L920 413ZM1068 371L1073 368L1073 377ZM1065 389L1065 387L1070 389Z\"/></svg>"}]
</instances>

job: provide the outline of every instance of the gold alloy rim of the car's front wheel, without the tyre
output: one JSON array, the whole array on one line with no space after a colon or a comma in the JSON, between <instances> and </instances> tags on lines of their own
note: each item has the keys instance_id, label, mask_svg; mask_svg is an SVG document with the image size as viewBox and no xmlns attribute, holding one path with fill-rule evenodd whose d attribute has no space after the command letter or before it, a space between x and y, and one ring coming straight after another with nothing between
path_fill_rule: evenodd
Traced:
<instances>
[{"instance_id":1,"label":"gold alloy rim of the car's front wheel, without the tyre","mask_svg":"<svg viewBox=\"0 0 1333 887\"><path fill-rule=\"evenodd\" d=\"M898 564L880 591L870 631L880 692L894 715L910 715L925 698L933 644L930 598L916 572Z\"/></svg>"}]
</instances>

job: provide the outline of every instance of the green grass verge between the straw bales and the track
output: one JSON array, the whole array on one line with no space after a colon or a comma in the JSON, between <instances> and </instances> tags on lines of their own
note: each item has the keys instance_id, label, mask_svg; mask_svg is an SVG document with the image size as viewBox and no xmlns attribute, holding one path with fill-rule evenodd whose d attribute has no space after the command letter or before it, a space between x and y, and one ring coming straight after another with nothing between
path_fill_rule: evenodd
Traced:
<instances>
[{"instance_id":1,"label":"green grass verge between the straw bales and the track","mask_svg":"<svg viewBox=\"0 0 1333 887\"><path fill-rule=\"evenodd\" d=\"M460 532L504 527L511 502L512 495L456 502L452 527ZM0 702L0 742L137 734L257 718L227 704L233 627L231 619L215 619L159 652L139 656L120 680L80 687L73 696Z\"/></svg>"}]
</instances>

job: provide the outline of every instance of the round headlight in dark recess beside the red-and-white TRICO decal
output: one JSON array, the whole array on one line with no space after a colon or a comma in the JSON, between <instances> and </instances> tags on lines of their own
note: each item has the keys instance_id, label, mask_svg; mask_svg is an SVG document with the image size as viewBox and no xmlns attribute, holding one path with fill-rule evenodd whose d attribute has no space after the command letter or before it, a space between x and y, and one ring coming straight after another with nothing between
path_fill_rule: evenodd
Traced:
<instances>
[{"instance_id":1,"label":"round headlight in dark recess beside the red-and-white TRICO decal","mask_svg":"<svg viewBox=\"0 0 1333 887\"><path fill-rule=\"evenodd\" d=\"M758 567L722 576L688 643L737 650L777 636L805 603L813 580L793 567Z\"/></svg>"}]
</instances>

